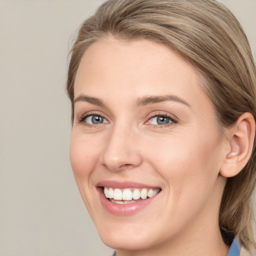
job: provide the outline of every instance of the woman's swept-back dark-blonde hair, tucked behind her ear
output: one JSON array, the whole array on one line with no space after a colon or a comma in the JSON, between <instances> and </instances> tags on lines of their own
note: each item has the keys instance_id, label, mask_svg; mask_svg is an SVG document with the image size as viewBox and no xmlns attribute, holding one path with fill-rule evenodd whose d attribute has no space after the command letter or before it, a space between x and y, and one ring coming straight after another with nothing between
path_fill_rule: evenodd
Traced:
<instances>
[{"instance_id":1,"label":"woman's swept-back dark-blonde hair, tucked behind her ear","mask_svg":"<svg viewBox=\"0 0 256 256\"><path fill-rule=\"evenodd\" d=\"M233 14L215 0L108 0L86 19L70 51L67 92L72 104L76 71L86 48L109 34L121 40L148 39L175 50L202 74L202 87L222 127L244 112L256 119L256 71L246 35ZM219 227L245 248L255 246L251 194L256 149L246 166L228 178Z\"/></svg>"}]
</instances>

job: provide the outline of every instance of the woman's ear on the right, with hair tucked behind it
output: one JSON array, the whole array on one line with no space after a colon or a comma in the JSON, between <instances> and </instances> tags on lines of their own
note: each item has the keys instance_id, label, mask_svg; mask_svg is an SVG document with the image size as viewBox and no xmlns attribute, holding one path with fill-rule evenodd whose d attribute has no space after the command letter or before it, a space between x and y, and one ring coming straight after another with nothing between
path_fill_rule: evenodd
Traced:
<instances>
[{"instance_id":1,"label":"woman's ear on the right, with hair tucked behind it","mask_svg":"<svg viewBox=\"0 0 256 256\"><path fill-rule=\"evenodd\" d=\"M248 162L255 136L255 120L251 113L243 113L227 130L227 147L219 174L232 177L238 174Z\"/></svg>"}]
</instances>

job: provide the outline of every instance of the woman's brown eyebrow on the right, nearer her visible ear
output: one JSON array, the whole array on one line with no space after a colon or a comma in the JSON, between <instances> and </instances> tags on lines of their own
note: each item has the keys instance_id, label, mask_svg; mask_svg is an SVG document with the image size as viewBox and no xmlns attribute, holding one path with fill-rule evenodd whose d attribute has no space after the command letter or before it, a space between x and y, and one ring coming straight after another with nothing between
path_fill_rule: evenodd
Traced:
<instances>
[{"instance_id":1,"label":"woman's brown eyebrow on the right, nearer her visible ear","mask_svg":"<svg viewBox=\"0 0 256 256\"><path fill-rule=\"evenodd\" d=\"M176 102L179 102L179 103L182 103L184 105L191 107L186 100L184 100L176 95L143 96L136 100L136 105L143 106L143 105L148 105L148 104L153 104L153 103L158 103L158 102L163 102L163 101L169 101L169 100L176 101Z\"/></svg>"}]
</instances>

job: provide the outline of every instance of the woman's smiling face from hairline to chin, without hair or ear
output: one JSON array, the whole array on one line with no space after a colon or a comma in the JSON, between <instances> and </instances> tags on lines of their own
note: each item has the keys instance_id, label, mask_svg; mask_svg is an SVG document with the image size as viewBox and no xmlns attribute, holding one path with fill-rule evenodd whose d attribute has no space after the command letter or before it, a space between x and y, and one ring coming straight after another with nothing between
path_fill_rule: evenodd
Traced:
<instances>
[{"instance_id":1,"label":"woman's smiling face from hairline to chin, without hair or ear","mask_svg":"<svg viewBox=\"0 0 256 256\"><path fill-rule=\"evenodd\" d=\"M198 73L170 49L109 37L84 53L70 159L108 246L180 245L217 229L220 137Z\"/></svg>"}]
</instances>

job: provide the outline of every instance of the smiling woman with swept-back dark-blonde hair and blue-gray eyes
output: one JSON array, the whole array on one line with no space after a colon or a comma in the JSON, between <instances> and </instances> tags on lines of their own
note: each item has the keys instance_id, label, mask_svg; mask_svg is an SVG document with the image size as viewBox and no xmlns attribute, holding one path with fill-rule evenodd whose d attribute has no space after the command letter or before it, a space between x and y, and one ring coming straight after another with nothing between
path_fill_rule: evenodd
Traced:
<instances>
[{"instance_id":1,"label":"smiling woman with swept-back dark-blonde hair and blue-gray eyes","mask_svg":"<svg viewBox=\"0 0 256 256\"><path fill-rule=\"evenodd\" d=\"M70 160L116 255L254 253L255 84L246 36L215 0L110 0L84 21Z\"/></svg>"}]
</instances>

